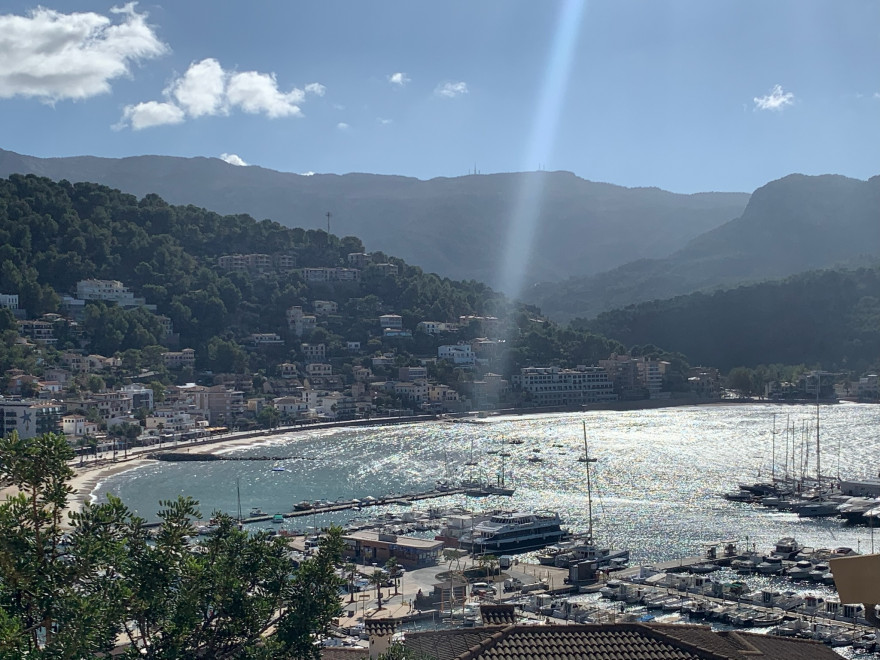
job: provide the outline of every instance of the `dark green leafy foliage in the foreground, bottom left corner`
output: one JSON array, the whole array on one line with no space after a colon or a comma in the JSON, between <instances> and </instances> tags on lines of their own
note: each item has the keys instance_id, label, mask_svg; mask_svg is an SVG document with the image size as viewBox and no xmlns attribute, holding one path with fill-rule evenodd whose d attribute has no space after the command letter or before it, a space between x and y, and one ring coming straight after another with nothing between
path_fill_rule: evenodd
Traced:
<instances>
[{"instance_id":1,"label":"dark green leafy foliage in the foreground, bottom left corner","mask_svg":"<svg viewBox=\"0 0 880 660\"><path fill-rule=\"evenodd\" d=\"M64 513L62 435L0 439L0 658L318 658L339 613L341 530L294 568L283 538L226 515L200 546L197 502L163 502L156 534L119 498Z\"/></svg>"}]
</instances>

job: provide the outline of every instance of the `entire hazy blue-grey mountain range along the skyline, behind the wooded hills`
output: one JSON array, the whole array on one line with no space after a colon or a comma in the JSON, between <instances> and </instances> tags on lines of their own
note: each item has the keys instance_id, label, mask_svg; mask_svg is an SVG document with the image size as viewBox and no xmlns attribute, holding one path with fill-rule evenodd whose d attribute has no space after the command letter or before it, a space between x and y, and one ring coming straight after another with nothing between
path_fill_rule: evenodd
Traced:
<instances>
[{"instance_id":1,"label":"entire hazy blue-grey mountain range along the skyline, behind the wooded hills","mask_svg":"<svg viewBox=\"0 0 880 660\"><path fill-rule=\"evenodd\" d=\"M428 181L299 174L216 158L35 158L0 150L0 176L91 181L291 227L330 229L452 279L501 289L514 205L543 187L520 298L557 321L880 257L880 177L793 174L745 193L679 195L568 172ZM230 251L234 251L230 246Z\"/></svg>"}]
</instances>

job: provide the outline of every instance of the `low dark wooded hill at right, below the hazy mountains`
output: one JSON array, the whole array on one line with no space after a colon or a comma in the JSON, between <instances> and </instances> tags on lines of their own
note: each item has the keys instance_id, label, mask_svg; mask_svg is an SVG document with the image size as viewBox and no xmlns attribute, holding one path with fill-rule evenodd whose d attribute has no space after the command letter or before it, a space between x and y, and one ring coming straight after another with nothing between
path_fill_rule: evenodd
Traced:
<instances>
[{"instance_id":1,"label":"low dark wooded hill at right, below the hazy mountains","mask_svg":"<svg viewBox=\"0 0 880 660\"><path fill-rule=\"evenodd\" d=\"M573 326L723 371L803 363L861 373L880 367L880 266L642 303Z\"/></svg>"}]
</instances>

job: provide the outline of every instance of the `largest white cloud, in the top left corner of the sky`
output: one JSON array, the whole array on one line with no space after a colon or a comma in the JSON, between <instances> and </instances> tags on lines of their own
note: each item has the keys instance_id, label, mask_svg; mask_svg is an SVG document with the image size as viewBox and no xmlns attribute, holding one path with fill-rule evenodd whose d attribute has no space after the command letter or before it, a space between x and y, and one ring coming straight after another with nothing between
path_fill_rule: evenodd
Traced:
<instances>
[{"instance_id":1,"label":"largest white cloud, in the top left corner of the sky","mask_svg":"<svg viewBox=\"0 0 880 660\"><path fill-rule=\"evenodd\" d=\"M105 94L131 64L168 50L134 3L110 11L121 20L43 7L0 15L0 98L52 102Z\"/></svg>"}]
</instances>

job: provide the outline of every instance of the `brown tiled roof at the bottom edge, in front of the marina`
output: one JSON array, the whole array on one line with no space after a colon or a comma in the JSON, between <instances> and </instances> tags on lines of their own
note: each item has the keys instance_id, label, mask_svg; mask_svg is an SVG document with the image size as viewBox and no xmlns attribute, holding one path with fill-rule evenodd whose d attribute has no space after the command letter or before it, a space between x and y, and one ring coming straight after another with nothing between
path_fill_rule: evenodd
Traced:
<instances>
[{"instance_id":1,"label":"brown tiled roof at the bottom edge, in front of the marina","mask_svg":"<svg viewBox=\"0 0 880 660\"><path fill-rule=\"evenodd\" d=\"M496 625L413 633L405 645L437 660L839 660L812 641L681 624Z\"/></svg>"}]
</instances>

